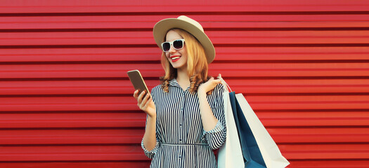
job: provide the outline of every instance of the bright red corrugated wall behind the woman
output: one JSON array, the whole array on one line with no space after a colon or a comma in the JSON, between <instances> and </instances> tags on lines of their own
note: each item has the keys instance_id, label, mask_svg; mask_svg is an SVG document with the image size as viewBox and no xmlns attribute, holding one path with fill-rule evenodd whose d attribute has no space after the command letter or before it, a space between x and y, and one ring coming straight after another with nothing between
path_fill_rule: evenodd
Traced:
<instances>
[{"instance_id":1,"label":"bright red corrugated wall behind the woman","mask_svg":"<svg viewBox=\"0 0 369 168\"><path fill-rule=\"evenodd\" d=\"M289 167L369 167L369 1L1 1L0 167L148 167L152 29L198 20Z\"/></svg>"}]
</instances>

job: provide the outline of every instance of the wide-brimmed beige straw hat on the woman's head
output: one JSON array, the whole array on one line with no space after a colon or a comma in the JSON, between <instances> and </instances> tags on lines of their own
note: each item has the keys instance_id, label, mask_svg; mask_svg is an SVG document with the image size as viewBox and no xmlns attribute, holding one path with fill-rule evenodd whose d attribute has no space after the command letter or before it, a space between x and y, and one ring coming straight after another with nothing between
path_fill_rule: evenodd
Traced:
<instances>
[{"instance_id":1,"label":"wide-brimmed beige straw hat on the woman's head","mask_svg":"<svg viewBox=\"0 0 369 168\"><path fill-rule=\"evenodd\" d=\"M164 37L167 35L169 29L179 28L188 31L190 34L195 36L195 38L200 41L202 46L205 49L205 55L207 57L207 63L209 64L214 60L215 57L215 49L212 41L210 41L209 37L202 29L202 26L199 22L188 18L185 15L181 15L178 18L168 18L164 20L160 20L154 26L153 34L155 38L155 42L159 48L162 48L162 43L164 42Z\"/></svg>"}]
</instances>

